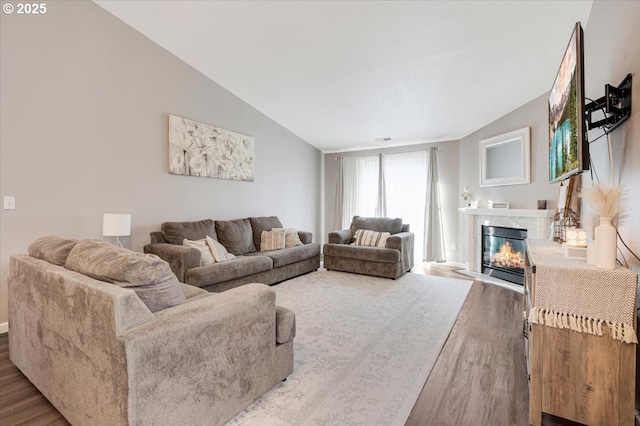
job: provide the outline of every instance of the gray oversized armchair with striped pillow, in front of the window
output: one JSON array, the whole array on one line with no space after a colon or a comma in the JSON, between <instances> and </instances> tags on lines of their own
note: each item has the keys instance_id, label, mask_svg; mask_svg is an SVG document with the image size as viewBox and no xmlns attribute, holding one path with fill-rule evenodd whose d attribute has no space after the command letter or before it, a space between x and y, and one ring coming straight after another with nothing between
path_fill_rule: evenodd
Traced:
<instances>
[{"instance_id":1,"label":"gray oversized armchair with striped pillow, in front of the window","mask_svg":"<svg viewBox=\"0 0 640 426\"><path fill-rule=\"evenodd\" d=\"M384 247L353 245L358 229L389 232ZM413 239L409 225L400 218L354 216L349 229L329 233L323 247L327 270L355 272L385 278L398 278L413 268Z\"/></svg>"}]
</instances>

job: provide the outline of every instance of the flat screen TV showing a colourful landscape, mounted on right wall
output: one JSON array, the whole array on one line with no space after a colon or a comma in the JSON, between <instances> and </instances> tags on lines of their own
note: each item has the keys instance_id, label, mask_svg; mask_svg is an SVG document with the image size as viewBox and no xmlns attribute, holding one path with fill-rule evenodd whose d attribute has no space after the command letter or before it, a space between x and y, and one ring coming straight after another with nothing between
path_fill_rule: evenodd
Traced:
<instances>
[{"instance_id":1,"label":"flat screen TV showing a colourful landscape, mounted on right wall","mask_svg":"<svg viewBox=\"0 0 640 426\"><path fill-rule=\"evenodd\" d=\"M582 37L582 26L578 22L549 94L549 182L589 169Z\"/></svg>"}]
</instances>

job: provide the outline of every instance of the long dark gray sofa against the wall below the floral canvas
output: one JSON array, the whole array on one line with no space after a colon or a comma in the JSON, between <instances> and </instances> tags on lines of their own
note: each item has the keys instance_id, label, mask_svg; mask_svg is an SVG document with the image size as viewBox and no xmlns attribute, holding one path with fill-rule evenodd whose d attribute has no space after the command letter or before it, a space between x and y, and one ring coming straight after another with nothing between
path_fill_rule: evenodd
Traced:
<instances>
[{"instance_id":1,"label":"long dark gray sofa against the wall below the floral canvas","mask_svg":"<svg viewBox=\"0 0 640 426\"><path fill-rule=\"evenodd\" d=\"M311 241L311 232L298 231L303 243L300 246L260 251L262 231L282 227L276 216L165 222L160 232L151 232L151 243L144 251L166 260L181 282L212 292L254 282L275 284L317 270L320 245ZM236 258L203 266L201 253L182 245L184 239L202 240L207 236Z\"/></svg>"}]
</instances>

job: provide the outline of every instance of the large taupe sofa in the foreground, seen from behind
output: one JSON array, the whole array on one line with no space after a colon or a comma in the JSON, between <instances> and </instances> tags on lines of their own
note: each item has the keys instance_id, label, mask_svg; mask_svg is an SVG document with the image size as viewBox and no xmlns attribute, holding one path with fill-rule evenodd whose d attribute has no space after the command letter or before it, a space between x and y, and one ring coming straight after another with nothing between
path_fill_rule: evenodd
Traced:
<instances>
[{"instance_id":1,"label":"large taupe sofa in the foreground, seen from behind","mask_svg":"<svg viewBox=\"0 0 640 426\"><path fill-rule=\"evenodd\" d=\"M72 424L219 425L293 371L295 317L264 284L208 293L101 241L29 253L11 256L10 357Z\"/></svg>"}]
</instances>

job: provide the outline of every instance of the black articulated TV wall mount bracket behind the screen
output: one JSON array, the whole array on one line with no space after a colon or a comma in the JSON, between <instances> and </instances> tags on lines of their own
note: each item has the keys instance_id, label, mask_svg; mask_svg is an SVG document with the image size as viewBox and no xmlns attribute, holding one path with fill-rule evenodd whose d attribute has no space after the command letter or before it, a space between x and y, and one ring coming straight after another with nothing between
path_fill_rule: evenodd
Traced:
<instances>
[{"instance_id":1,"label":"black articulated TV wall mount bracket behind the screen","mask_svg":"<svg viewBox=\"0 0 640 426\"><path fill-rule=\"evenodd\" d=\"M593 121L594 112L602 111L604 119ZM604 85L604 96L584 106L589 130L604 127L610 132L631 116L631 74L622 80L618 87Z\"/></svg>"}]
</instances>

